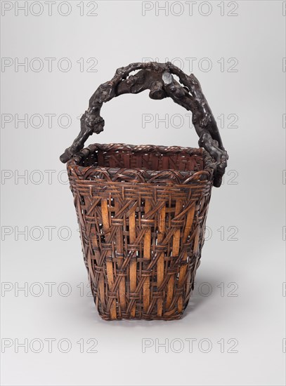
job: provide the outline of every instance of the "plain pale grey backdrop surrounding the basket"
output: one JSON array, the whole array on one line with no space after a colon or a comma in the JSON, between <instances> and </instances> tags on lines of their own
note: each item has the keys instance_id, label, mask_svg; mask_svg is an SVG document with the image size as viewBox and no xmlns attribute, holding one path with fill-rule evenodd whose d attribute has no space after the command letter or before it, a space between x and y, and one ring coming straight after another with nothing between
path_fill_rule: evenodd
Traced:
<instances>
[{"instance_id":1,"label":"plain pale grey backdrop surrounding the basket","mask_svg":"<svg viewBox=\"0 0 286 386\"><path fill-rule=\"evenodd\" d=\"M51 15L44 1L26 3L1 2L2 384L285 385L285 2L197 1L192 11L186 1L57 1ZM45 58L55 58L51 71ZM185 317L106 322L86 287L58 157L96 88L144 58L200 80L225 119L229 174L213 189ZM102 113L105 131L89 143L197 146L187 112L169 99L122 95Z\"/></svg>"}]
</instances>

